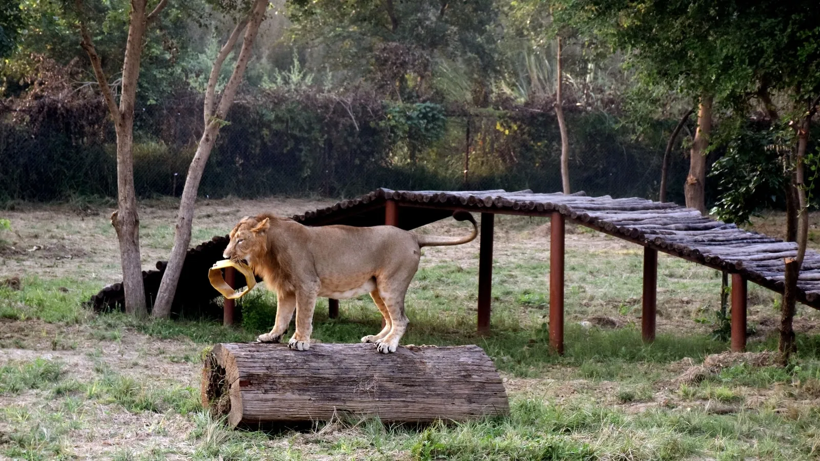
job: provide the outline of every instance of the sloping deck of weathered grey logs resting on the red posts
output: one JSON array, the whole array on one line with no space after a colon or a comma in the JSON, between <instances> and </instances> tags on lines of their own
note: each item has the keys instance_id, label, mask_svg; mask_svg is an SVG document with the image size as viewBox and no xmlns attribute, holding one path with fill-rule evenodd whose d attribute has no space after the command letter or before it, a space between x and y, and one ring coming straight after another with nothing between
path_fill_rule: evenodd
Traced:
<instances>
[{"instance_id":1,"label":"sloping deck of weathered grey logs resting on the red posts","mask_svg":"<svg viewBox=\"0 0 820 461\"><path fill-rule=\"evenodd\" d=\"M399 227L410 230L439 221L454 210L549 217L561 213L568 221L663 253L739 273L749 281L782 293L784 258L795 258L797 244L714 221L698 210L647 199L589 197L584 193L534 194L506 192L376 189L331 207L294 216L307 226L346 224L377 226L385 222L385 203L401 207ZM798 299L820 309L820 253L807 250L798 279Z\"/></svg>"}]
</instances>

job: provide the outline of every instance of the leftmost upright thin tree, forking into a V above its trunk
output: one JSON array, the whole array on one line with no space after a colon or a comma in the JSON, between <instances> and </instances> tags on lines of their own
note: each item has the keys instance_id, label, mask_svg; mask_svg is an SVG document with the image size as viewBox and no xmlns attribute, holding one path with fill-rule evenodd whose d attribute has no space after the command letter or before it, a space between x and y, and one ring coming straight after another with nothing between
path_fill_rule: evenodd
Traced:
<instances>
[{"instance_id":1,"label":"leftmost upright thin tree, forking into a V above its trunk","mask_svg":"<svg viewBox=\"0 0 820 461\"><path fill-rule=\"evenodd\" d=\"M108 78L103 72L103 63L91 40L86 25L84 6L75 1L79 17L80 45L89 55L94 76L111 114L116 130L116 211L111 215L111 223L120 243L122 263L122 285L125 290L125 312L142 317L147 315L142 265L139 257L139 214L134 191L134 103L139 61L142 56L145 31L166 7L167 0L160 0L153 11L147 13L146 0L131 0L128 40L125 43L125 58L122 62L122 84L120 103L117 105Z\"/></svg>"}]
</instances>

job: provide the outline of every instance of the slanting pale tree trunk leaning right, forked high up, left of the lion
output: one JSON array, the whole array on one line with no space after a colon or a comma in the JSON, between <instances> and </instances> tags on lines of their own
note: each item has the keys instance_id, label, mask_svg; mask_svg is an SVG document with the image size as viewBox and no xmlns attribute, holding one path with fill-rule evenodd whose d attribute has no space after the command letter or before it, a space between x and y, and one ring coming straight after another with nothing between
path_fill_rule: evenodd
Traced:
<instances>
[{"instance_id":1,"label":"slanting pale tree trunk leaning right, forked high up, left of the lion","mask_svg":"<svg viewBox=\"0 0 820 461\"><path fill-rule=\"evenodd\" d=\"M248 20L246 20L247 22L240 22L239 25L247 24L242 49L239 52L239 58L237 59L234 71L230 75L230 80L228 80L228 84L225 85L225 89L222 92L218 107L216 107L216 111L213 112L212 115L209 115L208 112L215 104L214 98L216 98L216 94L213 89L216 88L216 76L219 75L222 62L225 61L225 57L230 53L239 33L242 31L239 25L237 25L231 33L230 38L225 43L225 46L222 47L214 62L211 79L208 81L205 106L203 108L206 121L205 130L202 138L199 139L197 152L194 154L194 160L191 161L188 176L185 178L185 188L182 191L182 197L180 199L180 211L176 218L174 246L171 249L171 257L168 258L168 266L166 267L165 274L162 276L162 284L160 284L157 301L153 308L153 317L168 317L171 313L171 304L174 302L176 285L180 281L180 273L185 263L185 252L188 250L188 245L191 241L191 226L194 221L194 205L197 199L199 182L202 180L207 159L211 155L213 145L216 143L216 135L219 134L219 129L224 123L225 116L230 106L234 103L234 97L239 89L239 84L242 82L244 71L251 57L253 42L256 39L259 25L265 18L267 4L268 0L256 0L253 3L253 10L250 12Z\"/></svg>"}]
</instances>

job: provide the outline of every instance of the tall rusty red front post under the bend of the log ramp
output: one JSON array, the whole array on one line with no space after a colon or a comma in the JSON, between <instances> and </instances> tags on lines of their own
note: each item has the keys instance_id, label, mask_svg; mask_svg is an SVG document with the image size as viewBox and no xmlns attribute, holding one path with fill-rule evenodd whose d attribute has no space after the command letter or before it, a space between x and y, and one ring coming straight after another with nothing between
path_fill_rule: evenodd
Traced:
<instances>
[{"instance_id":1,"label":"tall rusty red front post under the bend of the log ramp","mask_svg":"<svg viewBox=\"0 0 820 461\"><path fill-rule=\"evenodd\" d=\"M564 217L553 212L549 231L549 345L563 355Z\"/></svg>"}]
</instances>

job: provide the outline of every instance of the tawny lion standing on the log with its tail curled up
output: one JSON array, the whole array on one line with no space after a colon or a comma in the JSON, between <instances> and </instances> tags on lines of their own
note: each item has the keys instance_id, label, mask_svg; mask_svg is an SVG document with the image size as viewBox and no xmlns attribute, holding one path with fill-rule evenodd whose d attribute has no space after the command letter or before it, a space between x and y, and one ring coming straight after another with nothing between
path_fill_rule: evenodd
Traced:
<instances>
[{"instance_id":1,"label":"tawny lion standing on the log with its tail curled up","mask_svg":"<svg viewBox=\"0 0 820 461\"><path fill-rule=\"evenodd\" d=\"M394 226L308 227L273 214L244 217L230 231L223 255L247 264L276 292L279 307L270 333L259 342L279 342L296 312L296 330L288 341L294 350L310 348L313 310L317 297L348 299L369 293L385 327L362 338L380 353L395 352L407 330L404 295L426 246L466 244L478 235L468 212L455 212L457 221L470 221L466 237L421 235Z\"/></svg>"}]
</instances>

